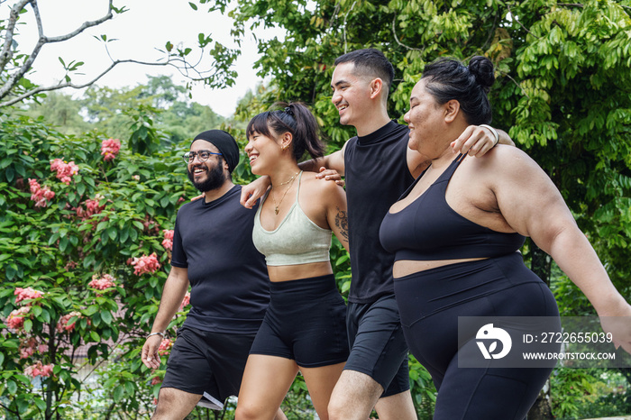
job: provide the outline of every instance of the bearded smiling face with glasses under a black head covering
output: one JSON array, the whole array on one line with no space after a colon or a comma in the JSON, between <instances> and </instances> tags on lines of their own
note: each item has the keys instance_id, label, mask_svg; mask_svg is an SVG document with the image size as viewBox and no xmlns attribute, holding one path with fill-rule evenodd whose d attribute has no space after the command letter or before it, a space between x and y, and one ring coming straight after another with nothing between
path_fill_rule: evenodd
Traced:
<instances>
[{"instance_id":1,"label":"bearded smiling face with glasses under a black head covering","mask_svg":"<svg viewBox=\"0 0 631 420\"><path fill-rule=\"evenodd\" d=\"M197 140L190 146L190 151L212 151L219 153L213 143L205 140ZM217 189L224 185L228 179L227 164L222 156L210 155L208 160L200 162L198 156L192 162L188 162L188 179L193 183L198 191L206 192Z\"/></svg>"}]
</instances>

